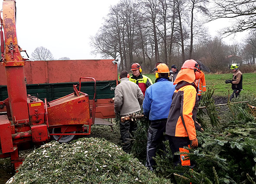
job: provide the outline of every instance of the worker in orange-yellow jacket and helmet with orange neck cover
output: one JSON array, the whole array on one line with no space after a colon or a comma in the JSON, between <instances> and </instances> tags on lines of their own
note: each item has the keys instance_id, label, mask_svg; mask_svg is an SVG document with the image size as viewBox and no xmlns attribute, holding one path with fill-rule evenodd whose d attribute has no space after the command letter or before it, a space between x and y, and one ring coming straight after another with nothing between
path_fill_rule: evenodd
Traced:
<instances>
[{"instance_id":1,"label":"worker in orange-yellow jacket and helmet with orange neck cover","mask_svg":"<svg viewBox=\"0 0 256 184\"><path fill-rule=\"evenodd\" d=\"M173 155L175 152L189 152L184 146L198 146L196 129L201 127L196 123L199 99L194 81L199 77L198 63L195 60L186 60L174 81L177 86L166 124L166 135ZM175 165L194 165L186 159L186 154L174 155L173 161Z\"/></svg>"}]
</instances>

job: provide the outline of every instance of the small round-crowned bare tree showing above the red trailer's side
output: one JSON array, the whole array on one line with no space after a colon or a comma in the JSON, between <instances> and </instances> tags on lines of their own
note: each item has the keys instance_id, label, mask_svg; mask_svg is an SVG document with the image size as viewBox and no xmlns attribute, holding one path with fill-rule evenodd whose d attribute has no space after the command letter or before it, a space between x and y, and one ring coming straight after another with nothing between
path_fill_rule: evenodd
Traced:
<instances>
[{"instance_id":1,"label":"small round-crowned bare tree showing above the red trailer's side","mask_svg":"<svg viewBox=\"0 0 256 184\"><path fill-rule=\"evenodd\" d=\"M53 54L43 46L37 47L31 54L32 60L54 60Z\"/></svg>"}]
</instances>

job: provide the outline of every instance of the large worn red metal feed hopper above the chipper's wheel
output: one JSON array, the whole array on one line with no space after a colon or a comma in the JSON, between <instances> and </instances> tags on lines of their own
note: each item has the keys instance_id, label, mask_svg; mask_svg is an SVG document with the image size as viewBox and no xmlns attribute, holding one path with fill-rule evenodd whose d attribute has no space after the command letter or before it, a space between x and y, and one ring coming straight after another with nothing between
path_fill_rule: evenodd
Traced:
<instances>
[{"instance_id":1,"label":"large worn red metal feed hopper above the chipper's wheel","mask_svg":"<svg viewBox=\"0 0 256 184\"><path fill-rule=\"evenodd\" d=\"M80 92L81 93L81 92ZM49 125L85 124L90 120L89 96L68 95L49 102Z\"/></svg>"}]
</instances>

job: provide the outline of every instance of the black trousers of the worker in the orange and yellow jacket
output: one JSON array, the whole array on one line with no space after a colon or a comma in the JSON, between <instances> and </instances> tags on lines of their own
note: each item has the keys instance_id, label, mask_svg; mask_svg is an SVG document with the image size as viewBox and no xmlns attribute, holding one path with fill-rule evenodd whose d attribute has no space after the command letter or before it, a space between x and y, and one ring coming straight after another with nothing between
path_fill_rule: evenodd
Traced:
<instances>
[{"instance_id":1,"label":"black trousers of the worker in the orange and yellow jacket","mask_svg":"<svg viewBox=\"0 0 256 184\"><path fill-rule=\"evenodd\" d=\"M167 139L169 140L169 145L173 154L173 162L174 165L181 165L181 156L180 155L174 155L175 152L180 152L180 148L183 148L184 146L190 145L190 140L188 137L175 137L175 136L169 136L166 135ZM192 163L190 162L190 165Z\"/></svg>"}]
</instances>

